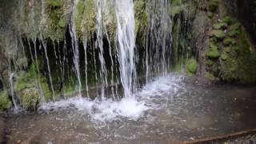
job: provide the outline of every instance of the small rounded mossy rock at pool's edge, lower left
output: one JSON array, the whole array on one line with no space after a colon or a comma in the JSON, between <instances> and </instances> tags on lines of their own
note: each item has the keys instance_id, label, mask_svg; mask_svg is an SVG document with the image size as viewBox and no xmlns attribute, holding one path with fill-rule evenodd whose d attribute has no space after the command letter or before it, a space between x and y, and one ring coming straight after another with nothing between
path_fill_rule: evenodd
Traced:
<instances>
[{"instance_id":1,"label":"small rounded mossy rock at pool's edge, lower left","mask_svg":"<svg viewBox=\"0 0 256 144\"><path fill-rule=\"evenodd\" d=\"M26 110L34 111L38 108L40 102L39 90L37 88L28 88L22 90L22 104L26 107Z\"/></svg>"}]
</instances>

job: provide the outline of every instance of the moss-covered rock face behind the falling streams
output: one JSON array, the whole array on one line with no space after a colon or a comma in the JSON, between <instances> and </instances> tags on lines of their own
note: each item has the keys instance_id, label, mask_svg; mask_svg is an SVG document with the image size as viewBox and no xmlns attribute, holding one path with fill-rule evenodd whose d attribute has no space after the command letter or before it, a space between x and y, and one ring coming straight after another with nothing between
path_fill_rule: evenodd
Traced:
<instances>
[{"instance_id":1,"label":"moss-covered rock face behind the falling streams","mask_svg":"<svg viewBox=\"0 0 256 144\"><path fill-rule=\"evenodd\" d=\"M76 33L74 42L79 45L82 79L95 74L94 69L98 68L96 0L3 0L2 3L0 92L7 93L5 103L10 102L9 77L13 72L17 75L14 95L26 103L27 109L36 109L42 95L48 102L54 99L54 94L74 92L76 74L72 70L74 54L70 31ZM172 70L181 71L185 67L187 74L210 80L256 82L256 54L251 40L254 37L250 37L256 35L255 7L251 1L242 0L135 0L138 65L150 59L146 52L160 54L165 47L168 49L166 63ZM114 1L106 1L102 10L107 65L111 56L106 54L117 52ZM70 30L70 24L74 25L74 31ZM116 61L112 59L112 63ZM84 73L87 64L90 74ZM96 81L92 76L88 78L90 85ZM31 90L34 92L29 93Z\"/></svg>"}]
</instances>

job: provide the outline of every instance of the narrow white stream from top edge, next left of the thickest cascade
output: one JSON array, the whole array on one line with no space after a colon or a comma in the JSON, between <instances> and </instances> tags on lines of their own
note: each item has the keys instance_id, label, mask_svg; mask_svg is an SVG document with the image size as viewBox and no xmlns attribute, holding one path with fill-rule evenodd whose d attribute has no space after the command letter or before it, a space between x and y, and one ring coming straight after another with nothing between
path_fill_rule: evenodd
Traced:
<instances>
[{"instance_id":1,"label":"narrow white stream from top edge, next left of the thickest cascade","mask_svg":"<svg viewBox=\"0 0 256 144\"><path fill-rule=\"evenodd\" d=\"M106 73L106 62L104 60L104 50L103 50L103 24L102 24L102 6L104 6L102 0L97 0L97 40L96 47L99 49L98 58L101 62L100 76L102 79L102 98L105 98L105 88L107 87L107 73Z\"/></svg>"}]
</instances>

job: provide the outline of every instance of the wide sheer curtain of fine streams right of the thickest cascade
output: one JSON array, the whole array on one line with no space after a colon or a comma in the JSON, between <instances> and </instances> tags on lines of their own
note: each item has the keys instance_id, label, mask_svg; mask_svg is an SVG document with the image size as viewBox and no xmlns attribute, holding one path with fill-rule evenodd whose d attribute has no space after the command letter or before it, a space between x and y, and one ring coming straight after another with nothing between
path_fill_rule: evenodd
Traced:
<instances>
[{"instance_id":1,"label":"wide sheer curtain of fine streams right of the thickest cascade","mask_svg":"<svg viewBox=\"0 0 256 144\"><path fill-rule=\"evenodd\" d=\"M171 49L171 21L167 0L154 0L148 7L149 22L146 34L146 82L154 74L166 74L167 49ZM170 27L170 29L168 29Z\"/></svg>"}]
</instances>

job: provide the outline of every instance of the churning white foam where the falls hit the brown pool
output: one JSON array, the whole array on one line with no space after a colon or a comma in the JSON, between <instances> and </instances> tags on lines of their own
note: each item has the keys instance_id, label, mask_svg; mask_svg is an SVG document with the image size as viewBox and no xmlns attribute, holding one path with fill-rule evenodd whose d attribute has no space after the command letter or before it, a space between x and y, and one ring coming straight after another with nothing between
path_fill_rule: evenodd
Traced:
<instances>
[{"instance_id":1,"label":"churning white foam where the falls hit the brown pool","mask_svg":"<svg viewBox=\"0 0 256 144\"><path fill-rule=\"evenodd\" d=\"M145 116L147 110L158 110L163 103L158 103L159 97L166 98L166 94L176 94L182 86L182 76L167 75L166 77L155 78L153 82L146 84L134 94L134 97L122 98L120 101L90 100L88 98L69 98L58 102L44 103L39 110L54 111L75 108L79 113L89 114L90 118L100 122L114 121L120 118L137 120Z\"/></svg>"}]
</instances>

